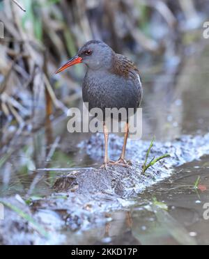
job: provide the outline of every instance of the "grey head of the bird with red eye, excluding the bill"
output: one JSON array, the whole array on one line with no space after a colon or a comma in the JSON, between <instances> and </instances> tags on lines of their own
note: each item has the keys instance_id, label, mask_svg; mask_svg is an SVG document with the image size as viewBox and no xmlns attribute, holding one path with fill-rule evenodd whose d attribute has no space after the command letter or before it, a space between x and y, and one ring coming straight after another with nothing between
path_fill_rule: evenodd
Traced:
<instances>
[{"instance_id":1,"label":"grey head of the bird with red eye, excluding the bill","mask_svg":"<svg viewBox=\"0 0 209 259\"><path fill-rule=\"evenodd\" d=\"M114 51L100 40L91 40L79 49L77 56L90 70L105 70L111 68Z\"/></svg>"}]
</instances>

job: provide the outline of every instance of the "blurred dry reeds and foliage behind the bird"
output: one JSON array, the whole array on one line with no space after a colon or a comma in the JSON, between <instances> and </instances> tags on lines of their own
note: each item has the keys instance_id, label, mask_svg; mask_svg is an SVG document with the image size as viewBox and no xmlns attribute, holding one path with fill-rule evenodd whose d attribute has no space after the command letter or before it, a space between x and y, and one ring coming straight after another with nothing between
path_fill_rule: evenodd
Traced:
<instances>
[{"instance_id":1,"label":"blurred dry reeds and foliage behind the bird","mask_svg":"<svg viewBox=\"0 0 209 259\"><path fill-rule=\"evenodd\" d=\"M84 42L104 40L130 56L144 82L157 72L176 73L185 46L199 40L207 18L203 0L13 0L0 1L1 142L14 130L31 132L82 96L84 68L55 76ZM192 33L190 33L192 31ZM45 112L43 112L45 111ZM50 117L51 116L51 117Z\"/></svg>"}]
</instances>

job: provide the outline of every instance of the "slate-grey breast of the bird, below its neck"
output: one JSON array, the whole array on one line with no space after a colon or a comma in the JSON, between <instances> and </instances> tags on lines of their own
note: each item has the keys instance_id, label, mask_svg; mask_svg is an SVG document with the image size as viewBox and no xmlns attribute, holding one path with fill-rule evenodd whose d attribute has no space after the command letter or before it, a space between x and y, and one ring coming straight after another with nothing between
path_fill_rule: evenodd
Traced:
<instances>
[{"instance_id":1,"label":"slate-grey breast of the bird, below its neck","mask_svg":"<svg viewBox=\"0 0 209 259\"><path fill-rule=\"evenodd\" d=\"M107 72L86 72L83 84L83 100L89 110L100 108L134 108L141 102L141 80L123 78Z\"/></svg>"}]
</instances>

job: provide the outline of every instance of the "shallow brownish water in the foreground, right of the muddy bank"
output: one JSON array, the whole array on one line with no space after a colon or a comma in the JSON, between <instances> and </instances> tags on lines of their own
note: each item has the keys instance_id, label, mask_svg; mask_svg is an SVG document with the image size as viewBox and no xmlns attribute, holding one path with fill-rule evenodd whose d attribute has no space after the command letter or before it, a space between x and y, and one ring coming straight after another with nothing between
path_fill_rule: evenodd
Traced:
<instances>
[{"instance_id":1,"label":"shallow brownish water in the foreground, right of the muddy bank","mask_svg":"<svg viewBox=\"0 0 209 259\"><path fill-rule=\"evenodd\" d=\"M209 168L204 165L208 158L204 157L201 162L176 169L176 173L169 180L145 191L139 197L139 205L131 210L109 214L112 221L108 226L108 236L111 238L103 240L103 236L101 238L96 235L93 236L95 240L110 244L185 244L185 240L182 241L181 238L187 233L192 237L189 244L209 244L208 221L203 219L203 205L209 201ZM206 191L194 189L194 182L199 175L201 184L207 188ZM162 221L143 204L152 202L153 197L168 206Z\"/></svg>"}]
</instances>

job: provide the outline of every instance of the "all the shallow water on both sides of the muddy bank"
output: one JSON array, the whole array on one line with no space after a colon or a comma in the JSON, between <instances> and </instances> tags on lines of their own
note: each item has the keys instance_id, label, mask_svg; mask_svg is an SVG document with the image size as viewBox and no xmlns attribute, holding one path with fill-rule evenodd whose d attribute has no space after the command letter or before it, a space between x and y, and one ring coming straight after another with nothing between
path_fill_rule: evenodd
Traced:
<instances>
[{"instance_id":1,"label":"all the shallow water on both sides of the muddy bank","mask_svg":"<svg viewBox=\"0 0 209 259\"><path fill-rule=\"evenodd\" d=\"M202 53L194 52L175 75L144 74L144 139L155 135L157 140L165 141L183 134L208 133L208 56L208 47ZM92 159L77 148L77 143L90 135L68 134L66 122L65 118L58 118L31 137L10 141L6 153L1 149L0 163L6 159L0 168L1 197L52 194L56 178L69 172L61 168L102 163L100 158ZM100 228L85 233L65 233L68 244L181 244L184 235L191 237L187 242L209 244L209 225L203 219L203 205L209 203L208 172L209 157L176 168L171 178L145 191L134 205L108 212L109 223L101 223ZM196 190L194 183L199 176L204 188ZM167 212L160 210L156 214L148 210L154 197L168 206Z\"/></svg>"}]
</instances>

